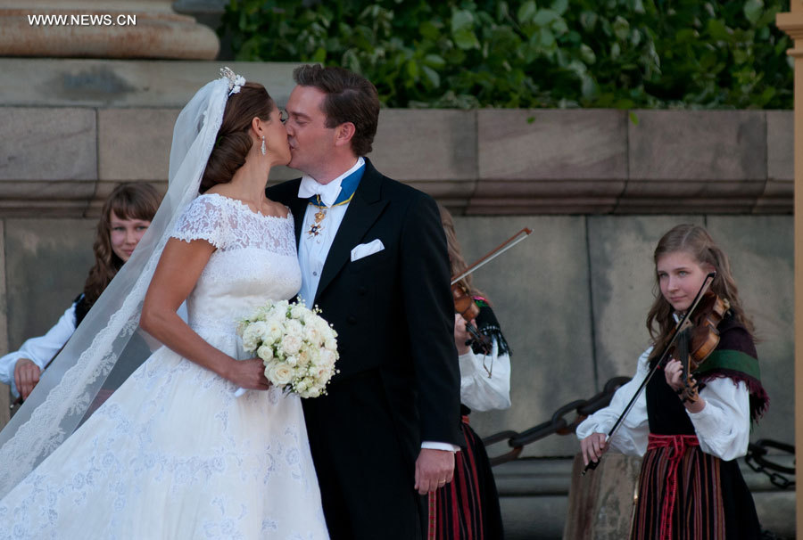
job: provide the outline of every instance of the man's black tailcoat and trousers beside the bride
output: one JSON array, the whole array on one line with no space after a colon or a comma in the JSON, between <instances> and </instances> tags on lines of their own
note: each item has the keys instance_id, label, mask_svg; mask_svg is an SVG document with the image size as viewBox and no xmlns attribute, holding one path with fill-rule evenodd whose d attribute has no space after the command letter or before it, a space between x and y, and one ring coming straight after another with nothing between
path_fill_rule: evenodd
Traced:
<instances>
[{"instance_id":1,"label":"man's black tailcoat and trousers beside the bride","mask_svg":"<svg viewBox=\"0 0 803 540\"><path fill-rule=\"evenodd\" d=\"M449 260L435 201L365 167L314 302L337 331L340 372L304 415L332 538L413 540L426 523L421 442L463 444ZM296 239L300 182L267 190L292 209ZM377 238L384 250L351 260Z\"/></svg>"}]
</instances>

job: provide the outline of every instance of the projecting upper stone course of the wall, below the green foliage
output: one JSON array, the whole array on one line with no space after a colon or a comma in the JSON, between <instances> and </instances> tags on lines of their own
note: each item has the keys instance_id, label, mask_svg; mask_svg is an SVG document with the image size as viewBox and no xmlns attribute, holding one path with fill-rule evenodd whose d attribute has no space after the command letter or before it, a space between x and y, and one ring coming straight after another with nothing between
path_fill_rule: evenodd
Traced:
<instances>
[{"instance_id":1,"label":"projecting upper stone course of the wall, below the green foliage","mask_svg":"<svg viewBox=\"0 0 803 540\"><path fill-rule=\"evenodd\" d=\"M228 63L286 102L293 64ZM0 58L0 216L163 183L172 122L219 67ZM371 158L460 215L789 214L791 133L791 111L383 110Z\"/></svg>"}]
</instances>

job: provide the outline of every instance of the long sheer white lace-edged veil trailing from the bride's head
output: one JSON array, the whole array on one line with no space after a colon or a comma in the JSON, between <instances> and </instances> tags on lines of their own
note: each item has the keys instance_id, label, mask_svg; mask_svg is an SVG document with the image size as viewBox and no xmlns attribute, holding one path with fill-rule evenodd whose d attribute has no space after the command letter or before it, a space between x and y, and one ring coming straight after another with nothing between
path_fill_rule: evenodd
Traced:
<instances>
[{"instance_id":1,"label":"long sheer white lace-edged veil trailing from the bride's head","mask_svg":"<svg viewBox=\"0 0 803 540\"><path fill-rule=\"evenodd\" d=\"M178 115L170 149L167 194L128 262L103 291L34 391L0 431L0 498L46 459L94 410L112 369L144 360L131 347L145 292L161 251L186 206L198 195L230 94L244 78L228 68L203 86Z\"/></svg>"}]
</instances>

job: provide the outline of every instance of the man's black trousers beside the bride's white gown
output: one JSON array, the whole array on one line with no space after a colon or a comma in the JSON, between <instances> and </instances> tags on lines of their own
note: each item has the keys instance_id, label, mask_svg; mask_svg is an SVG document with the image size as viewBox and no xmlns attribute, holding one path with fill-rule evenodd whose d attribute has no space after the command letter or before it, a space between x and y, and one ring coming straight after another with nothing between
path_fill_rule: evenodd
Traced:
<instances>
[{"instance_id":1,"label":"man's black trousers beside the bride's white gown","mask_svg":"<svg viewBox=\"0 0 803 540\"><path fill-rule=\"evenodd\" d=\"M327 396L303 400L332 540L424 537L426 499L413 489L418 450L397 436L402 426L393 425L398 417L384 384L379 370L370 370L336 384Z\"/></svg>"}]
</instances>

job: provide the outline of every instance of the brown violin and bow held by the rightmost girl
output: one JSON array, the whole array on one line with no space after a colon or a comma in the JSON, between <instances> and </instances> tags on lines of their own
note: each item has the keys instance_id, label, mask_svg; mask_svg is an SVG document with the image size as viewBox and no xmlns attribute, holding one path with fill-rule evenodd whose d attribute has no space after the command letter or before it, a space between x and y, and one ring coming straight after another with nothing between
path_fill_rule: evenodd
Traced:
<instances>
[{"instance_id":1,"label":"brown violin and bow held by the rightmost girl","mask_svg":"<svg viewBox=\"0 0 803 540\"><path fill-rule=\"evenodd\" d=\"M694 301L691 302L691 306L683 314L681 320L675 324L675 329L658 356L658 362L655 363L644 380L642 380L642 384L639 385L639 388L625 406L625 410L619 414L617 421L608 431L606 440L610 440L617 432L619 426L622 425L622 421L633 409L636 399L647 388L647 383L650 382L652 376L666 364L666 361L670 358L670 353L674 352L675 357L683 364L683 389L679 394L682 394L684 401L693 399L696 396L697 382L691 378L690 373L697 370L700 364L714 352L714 349L719 344L719 331L716 326L730 308L727 300L720 299L713 292L708 292L708 285L714 281L715 277L716 272L711 272L703 280L700 290L697 291ZM698 309L700 307L708 307L708 309ZM585 476L585 473L589 470L596 469L599 464L600 461L589 461L582 475Z\"/></svg>"}]
</instances>

